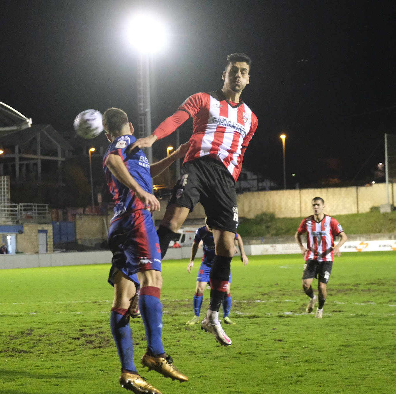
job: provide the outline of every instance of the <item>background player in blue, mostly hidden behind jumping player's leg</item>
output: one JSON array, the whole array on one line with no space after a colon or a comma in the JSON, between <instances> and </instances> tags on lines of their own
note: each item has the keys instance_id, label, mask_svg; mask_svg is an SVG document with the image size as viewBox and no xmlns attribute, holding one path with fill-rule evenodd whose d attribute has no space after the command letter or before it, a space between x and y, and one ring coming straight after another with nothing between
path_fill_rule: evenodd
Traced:
<instances>
[{"instance_id":1,"label":"background player in blue, mostly hidden behind jumping player's leg","mask_svg":"<svg viewBox=\"0 0 396 394\"><path fill-rule=\"evenodd\" d=\"M235 234L235 240L238 243L238 248L241 253L241 261L244 265L247 265L247 263L249 263L249 260L245 254L242 237L238 233ZM191 258L190 258L190 262L187 265L188 273L191 272L192 267L194 266L194 258L198 251L199 244L201 241L203 242L204 245L204 257L202 258L202 262L197 273L197 284L195 288L195 294L192 299L193 300L192 305L194 308L194 317L191 320L188 320L186 324L196 324L200 322L199 315L201 311L202 299L204 297L204 290L206 284L208 284L209 282L209 273L213 259L215 258L215 241L213 239L212 230L208 227L208 225L200 227L195 231L194 242L191 246ZM223 319L225 324L235 324L228 317L228 314L230 313L230 309L231 309L230 288L231 288L231 273L230 273L230 277L228 278L227 292L223 299Z\"/></svg>"}]
</instances>

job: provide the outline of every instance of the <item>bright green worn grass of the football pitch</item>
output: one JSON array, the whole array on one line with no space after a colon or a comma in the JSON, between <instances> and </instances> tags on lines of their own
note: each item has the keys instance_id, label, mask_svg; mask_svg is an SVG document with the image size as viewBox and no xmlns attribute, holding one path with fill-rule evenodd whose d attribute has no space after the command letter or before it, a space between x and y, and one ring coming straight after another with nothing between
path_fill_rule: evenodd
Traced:
<instances>
[{"instance_id":1,"label":"bright green worn grass of the football pitch","mask_svg":"<svg viewBox=\"0 0 396 394\"><path fill-rule=\"evenodd\" d=\"M305 314L303 260L253 256L232 262L235 326L221 347L193 315L194 272L187 260L163 263L163 342L188 375L180 384L139 364L146 342L131 321L135 363L165 393L396 392L395 252L345 253L335 260L324 316ZM109 265L1 270L0 393L108 394L120 365L109 330ZM316 284L316 280L314 281ZM202 311L208 305L204 293Z\"/></svg>"}]
</instances>

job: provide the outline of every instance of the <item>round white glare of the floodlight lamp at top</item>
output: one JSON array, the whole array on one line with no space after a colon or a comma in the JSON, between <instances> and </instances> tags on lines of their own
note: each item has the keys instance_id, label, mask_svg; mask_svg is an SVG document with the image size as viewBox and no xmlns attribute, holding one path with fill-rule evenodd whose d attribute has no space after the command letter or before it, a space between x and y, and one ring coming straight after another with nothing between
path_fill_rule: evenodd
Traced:
<instances>
[{"instance_id":1,"label":"round white glare of the floodlight lamp at top","mask_svg":"<svg viewBox=\"0 0 396 394\"><path fill-rule=\"evenodd\" d=\"M131 45L143 53L156 52L168 41L164 23L155 15L137 13L129 20L128 35Z\"/></svg>"}]
</instances>

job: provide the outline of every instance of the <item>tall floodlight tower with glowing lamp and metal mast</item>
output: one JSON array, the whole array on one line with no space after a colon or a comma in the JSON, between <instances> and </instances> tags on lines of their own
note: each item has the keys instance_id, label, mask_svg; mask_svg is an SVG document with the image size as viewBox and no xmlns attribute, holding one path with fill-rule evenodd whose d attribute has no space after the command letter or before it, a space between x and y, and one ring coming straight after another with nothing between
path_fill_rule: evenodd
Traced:
<instances>
[{"instance_id":1,"label":"tall floodlight tower with glowing lamp and metal mast","mask_svg":"<svg viewBox=\"0 0 396 394\"><path fill-rule=\"evenodd\" d=\"M136 14L129 23L129 38L139 51L137 71L137 137L151 134L150 60L152 54L164 47L167 32L161 21L147 13ZM152 163L152 148L145 148L148 162Z\"/></svg>"}]
</instances>

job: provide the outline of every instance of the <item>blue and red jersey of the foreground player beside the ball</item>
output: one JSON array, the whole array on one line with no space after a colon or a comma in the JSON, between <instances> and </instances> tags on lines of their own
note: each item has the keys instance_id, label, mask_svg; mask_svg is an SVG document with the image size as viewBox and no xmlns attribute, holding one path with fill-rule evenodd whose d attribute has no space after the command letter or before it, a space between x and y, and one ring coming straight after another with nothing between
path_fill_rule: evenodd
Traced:
<instances>
[{"instance_id":1,"label":"blue and red jersey of the foreground player beside the ball","mask_svg":"<svg viewBox=\"0 0 396 394\"><path fill-rule=\"evenodd\" d=\"M144 209L145 206L136 197L135 193L116 179L116 177L107 168L105 161L108 155L119 155L122 158L122 161L124 161L129 174L131 174L141 188L148 193L152 193L150 165L147 157L143 153L143 150L139 149L137 152L133 153L133 155L127 157L127 148L135 141L136 138L130 134L114 138L114 141L109 145L109 148L107 148L105 156L103 157L103 170L105 170L107 185L109 186L110 192L113 195L113 200L116 203L113 219L127 212Z\"/></svg>"}]
</instances>

